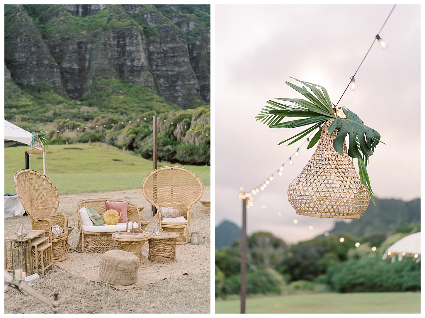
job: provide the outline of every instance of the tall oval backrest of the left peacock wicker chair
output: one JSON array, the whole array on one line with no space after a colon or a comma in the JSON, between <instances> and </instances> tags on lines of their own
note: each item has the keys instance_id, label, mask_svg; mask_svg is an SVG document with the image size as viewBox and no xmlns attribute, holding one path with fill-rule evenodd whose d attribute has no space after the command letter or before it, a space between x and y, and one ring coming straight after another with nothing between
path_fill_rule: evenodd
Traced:
<instances>
[{"instance_id":1,"label":"tall oval backrest of the left peacock wicker chair","mask_svg":"<svg viewBox=\"0 0 425 318\"><path fill-rule=\"evenodd\" d=\"M59 194L53 183L41 173L21 169L14 177L16 193L30 217L48 219L59 207Z\"/></svg>"}]
</instances>

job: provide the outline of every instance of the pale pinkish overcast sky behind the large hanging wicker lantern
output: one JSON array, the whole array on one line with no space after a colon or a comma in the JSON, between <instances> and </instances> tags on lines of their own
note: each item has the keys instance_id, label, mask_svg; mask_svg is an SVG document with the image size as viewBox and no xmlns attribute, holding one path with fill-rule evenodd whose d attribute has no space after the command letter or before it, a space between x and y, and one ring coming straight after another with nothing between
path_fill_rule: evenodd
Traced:
<instances>
[{"instance_id":1,"label":"pale pinkish overcast sky behind the large hanging wicker lantern","mask_svg":"<svg viewBox=\"0 0 425 318\"><path fill-rule=\"evenodd\" d=\"M296 84L291 76L323 85L336 103L391 9L392 5L215 6L216 226L226 219L241 226L239 187L250 191L277 173L301 144L277 145L299 128L271 129L255 121L265 102L303 98L284 83ZM420 195L419 5L397 5L380 36L389 43L388 50L380 50L375 42L357 72L357 90L348 90L338 106L358 114L386 143L377 146L368 166L375 196L408 201ZM334 227L333 219L297 215L288 202L288 185L314 150L303 146L293 165L285 165L283 176L275 173L266 190L254 197L254 206L247 210L249 234L270 231L294 243Z\"/></svg>"}]
</instances>

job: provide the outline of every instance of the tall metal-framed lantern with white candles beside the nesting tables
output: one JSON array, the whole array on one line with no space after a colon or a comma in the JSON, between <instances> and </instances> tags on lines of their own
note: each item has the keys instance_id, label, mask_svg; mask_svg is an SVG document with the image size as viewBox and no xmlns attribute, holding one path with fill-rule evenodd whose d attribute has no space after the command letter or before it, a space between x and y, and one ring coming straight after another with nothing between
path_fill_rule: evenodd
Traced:
<instances>
[{"instance_id":1,"label":"tall metal-framed lantern with white candles beside the nesting tables","mask_svg":"<svg viewBox=\"0 0 425 318\"><path fill-rule=\"evenodd\" d=\"M23 236L11 241L12 268L16 278L24 279L32 275L32 247L31 238Z\"/></svg>"}]
</instances>

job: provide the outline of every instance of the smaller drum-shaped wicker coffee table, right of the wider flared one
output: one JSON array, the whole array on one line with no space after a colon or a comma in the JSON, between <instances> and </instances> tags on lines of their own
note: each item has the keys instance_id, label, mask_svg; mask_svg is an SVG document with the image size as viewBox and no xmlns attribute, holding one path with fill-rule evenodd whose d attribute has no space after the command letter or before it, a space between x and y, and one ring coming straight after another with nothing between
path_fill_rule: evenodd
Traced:
<instances>
[{"instance_id":1,"label":"smaller drum-shaped wicker coffee table, right of the wider flared one","mask_svg":"<svg viewBox=\"0 0 425 318\"><path fill-rule=\"evenodd\" d=\"M149 239L149 256L152 263L173 263L176 258L176 233L162 232L161 236L151 236Z\"/></svg>"}]
</instances>

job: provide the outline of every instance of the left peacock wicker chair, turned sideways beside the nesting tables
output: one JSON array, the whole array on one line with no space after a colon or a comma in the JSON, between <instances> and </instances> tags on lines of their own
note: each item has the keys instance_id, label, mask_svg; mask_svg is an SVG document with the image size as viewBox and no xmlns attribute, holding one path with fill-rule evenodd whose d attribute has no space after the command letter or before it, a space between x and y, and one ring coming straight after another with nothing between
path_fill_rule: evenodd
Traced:
<instances>
[{"instance_id":1,"label":"left peacock wicker chair, turned sideways beside the nesting tables","mask_svg":"<svg viewBox=\"0 0 425 318\"><path fill-rule=\"evenodd\" d=\"M56 213L59 207L59 194L53 183L41 173L21 169L15 173L16 193L23 208L28 213L33 230L45 230L52 243L53 262L65 261L65 241L68 236L68 218ZM52 225L62 227L61 235L53 235Z\"/></svg>"}]
</instances>

